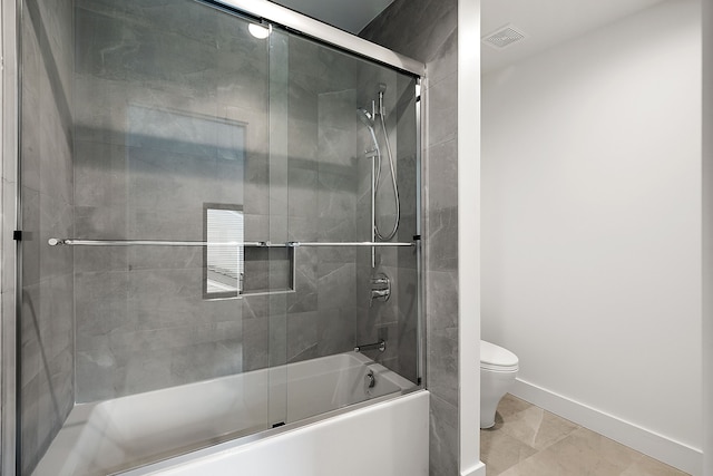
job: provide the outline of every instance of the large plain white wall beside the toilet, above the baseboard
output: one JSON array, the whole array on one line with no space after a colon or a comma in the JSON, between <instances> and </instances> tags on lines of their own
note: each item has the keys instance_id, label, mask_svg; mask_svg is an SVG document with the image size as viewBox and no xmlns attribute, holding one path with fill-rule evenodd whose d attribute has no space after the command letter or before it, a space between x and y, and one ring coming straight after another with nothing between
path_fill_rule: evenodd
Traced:
<instances>
[{"instance_id":1,"label":"large plain white wall beside the toilet, above the baseboard","mask_svg":"<svg viewBox=\"0 0 713 476\"><path fill-rule=\"evenodd\" d=\"M484 339L694 473L700 23L697 0L666 1L482 81Z\"/></svg>"}]
</instances>

